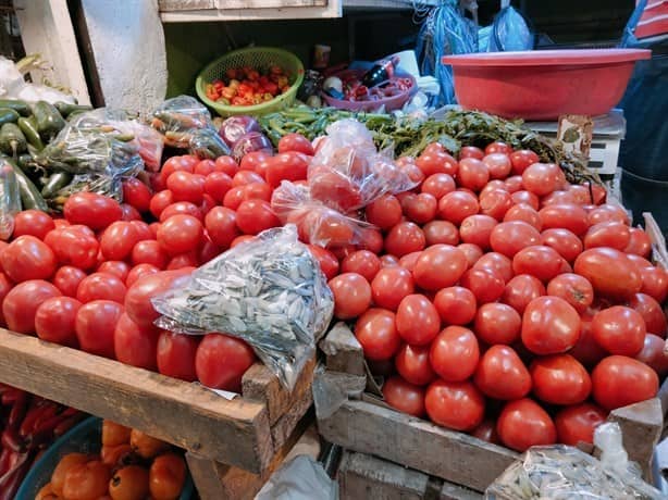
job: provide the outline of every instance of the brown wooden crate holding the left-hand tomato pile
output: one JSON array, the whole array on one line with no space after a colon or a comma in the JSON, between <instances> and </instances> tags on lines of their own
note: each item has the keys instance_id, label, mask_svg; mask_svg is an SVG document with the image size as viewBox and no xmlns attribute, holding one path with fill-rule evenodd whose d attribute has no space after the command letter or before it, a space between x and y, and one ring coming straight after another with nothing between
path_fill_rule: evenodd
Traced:
<instances>
[{"instance_id":1,"label":"brown wooden crate holding the left-hand tomato pile","mask_svg":"<svg viewBox=\"0 0 668 500\"><path fill-rule=\"evenodd\" d=\"M198 384L0 328L1 383L186 449L202 500L237 498L210 487L212 471L259 489L281 463L313 420L314 363L293 391L258 363L244 375L242 397L227 400Z\"/></svg>"}]
</instances>

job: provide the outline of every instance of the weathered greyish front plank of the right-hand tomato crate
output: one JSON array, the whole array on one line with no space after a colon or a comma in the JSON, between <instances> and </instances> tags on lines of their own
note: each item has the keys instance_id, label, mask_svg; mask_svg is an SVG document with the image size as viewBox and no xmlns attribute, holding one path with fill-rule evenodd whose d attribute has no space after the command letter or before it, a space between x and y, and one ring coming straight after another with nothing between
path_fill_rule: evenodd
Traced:
<instances>
[{"instance_id":1,"label":"weathered greyish front plank of the right-hand tomato crate","mask_svg":"<svg viewBox=\"0 0 668 500\"><path fill-rule=\"evenodd\" d=\"M330 442L478 491L518 458L506 448L363 401L345 402L318 428Z\"/></svg>"}]
</instances>

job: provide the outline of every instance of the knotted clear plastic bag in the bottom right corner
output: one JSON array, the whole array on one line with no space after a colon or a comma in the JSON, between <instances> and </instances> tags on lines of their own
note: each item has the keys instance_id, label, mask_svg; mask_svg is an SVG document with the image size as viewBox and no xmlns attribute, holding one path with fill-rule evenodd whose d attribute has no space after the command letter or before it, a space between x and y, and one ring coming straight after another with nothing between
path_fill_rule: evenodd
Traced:
<instances>
[{"instance_id":1,"label":"knotted clear plastic bag in the bottom right corner","mask_svg":"<svg viewBox=\"0 0 668 500\"><path fill-rule=\"evenodd\" d=\"M486 489L486 500L659 500L621 446L618 424L598 426L601 460L565 445L530 448Z\"/></svg>"}]
</instances>

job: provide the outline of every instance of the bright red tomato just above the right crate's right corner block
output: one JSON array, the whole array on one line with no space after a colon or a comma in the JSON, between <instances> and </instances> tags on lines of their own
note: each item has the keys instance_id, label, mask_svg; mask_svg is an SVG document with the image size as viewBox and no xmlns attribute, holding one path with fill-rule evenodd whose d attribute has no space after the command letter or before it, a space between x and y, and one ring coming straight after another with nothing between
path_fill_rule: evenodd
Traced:
<instances>
[{"instance_id":1,"label":"bright red tomato just above the right crate's right corner block","mask_svg":"<svg viewBox=\"0 0 668 500\"><path fill-rule=\"evenodd\" d=\"M645 363L626 355L610 355L592 372L592 395L605 410L652 399L658 392L658 376Z\"/></svg>"}]
</instances>

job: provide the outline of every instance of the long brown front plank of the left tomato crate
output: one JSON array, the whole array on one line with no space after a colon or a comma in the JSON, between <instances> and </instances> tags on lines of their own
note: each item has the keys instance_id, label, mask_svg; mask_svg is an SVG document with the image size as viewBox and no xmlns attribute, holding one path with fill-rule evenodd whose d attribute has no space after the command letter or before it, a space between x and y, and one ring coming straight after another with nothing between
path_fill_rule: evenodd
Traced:
<instances>
[{"instance_id":1,"label":"long brown front plank of the left tomato crate","mask_svg":"<svg viewBox=\"0 0 668 500\"><path fill-rule=\"evenodd\" d=\"M0 380L247 471L274 454L262 404L5 329Z\"/></svg>"}]
</instances>

